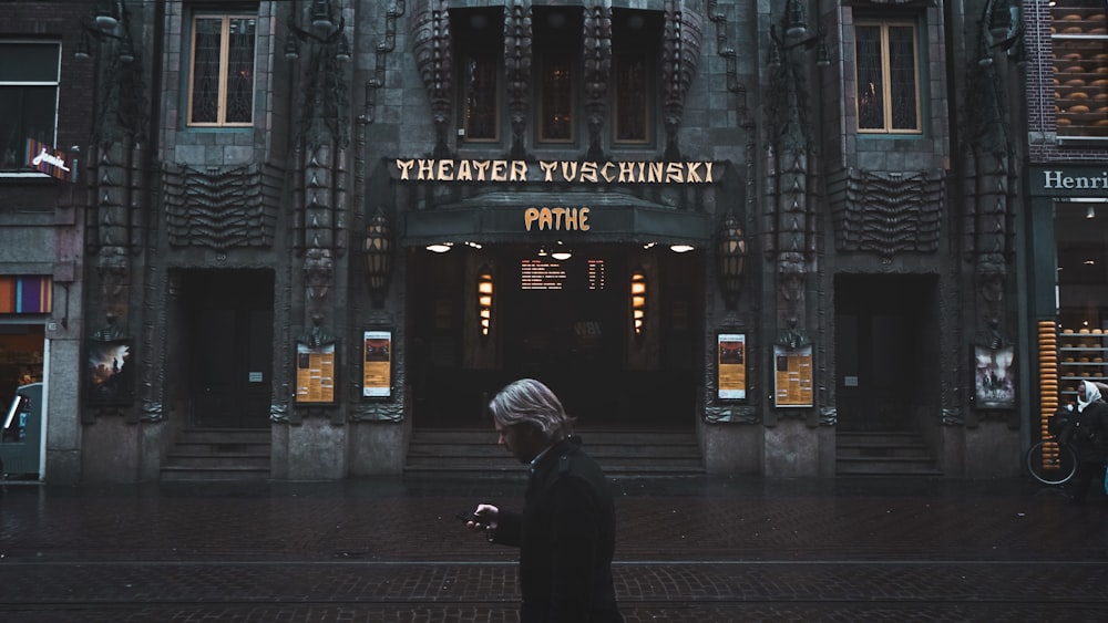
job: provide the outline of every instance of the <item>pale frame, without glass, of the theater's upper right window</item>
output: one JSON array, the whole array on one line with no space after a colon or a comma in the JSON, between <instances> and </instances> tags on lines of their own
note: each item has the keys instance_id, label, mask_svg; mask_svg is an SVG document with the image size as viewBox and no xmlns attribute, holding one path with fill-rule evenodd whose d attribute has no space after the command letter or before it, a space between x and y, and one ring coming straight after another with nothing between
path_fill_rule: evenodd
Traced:
<instances>
[{"instance_id":1,"label":"pale frame, without glass, of the theater's upper right window","mask_svg":"<svg viewBox=\"0 0 1108 623\"><path fill-rule=\"evenodd\" d=\"M858 66L858 29L878 28L881 33L881 81L882 81L882 118L883 127L862 127L862 102L860 97L861 72ZM892 28L910 28L912 30L912 68L915 93L915 127L895 128L893 125L892 97L892 52L890 51L889 31ZM863 18L854 22L854 126L859 134L866 136L919 136L923 134L923 54L920 49L920 32L922 28L917 20L911 18Z\"/></svg>"}]
</instances>

